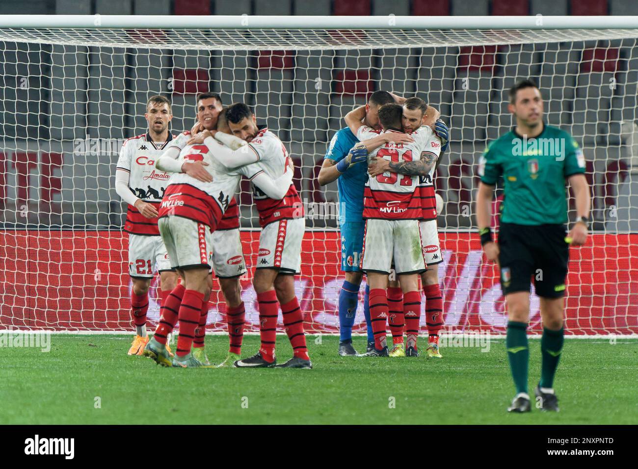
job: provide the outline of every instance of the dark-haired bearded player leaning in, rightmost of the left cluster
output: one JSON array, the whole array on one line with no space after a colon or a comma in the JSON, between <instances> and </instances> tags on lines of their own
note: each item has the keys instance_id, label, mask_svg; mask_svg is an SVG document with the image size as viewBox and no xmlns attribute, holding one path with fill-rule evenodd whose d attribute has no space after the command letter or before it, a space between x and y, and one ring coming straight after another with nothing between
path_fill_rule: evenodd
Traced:
<instances>
[{"instance_id":1,"label":"dark-haired bearded player leaning in, rightmost of the left cluster","mask_svg":"<svg viewBox=\"0 0 638 469\"><path fill-rule=\"evenodd\" d=\"M289 161L286 148L274 133L267 128L258 128L255 115L247 105L235 103L228 107L226 120L233 135L248 143L243 147L244 153L259 161L267 174L276 177L285 171ZM215 134L217 136L218 133ZM306 347L304 315L294 288L294 275L300 271L301 242L306 230L299 194L291 183L286 186L285 197L272 198L253 184L253 199L262 227L253 278L262 343L255 355L235 361L235 366L312 368ZM293 349L292 359L279 365L275 356L277 302L281 305L283 323Z\"/></svg>"}]
</instances>

